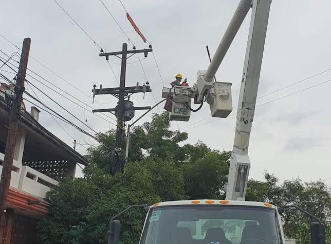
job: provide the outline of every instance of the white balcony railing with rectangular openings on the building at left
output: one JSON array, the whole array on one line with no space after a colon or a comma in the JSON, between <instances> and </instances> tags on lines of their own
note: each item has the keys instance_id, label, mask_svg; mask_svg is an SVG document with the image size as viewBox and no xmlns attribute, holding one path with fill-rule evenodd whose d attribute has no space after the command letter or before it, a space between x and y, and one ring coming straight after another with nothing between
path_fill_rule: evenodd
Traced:
<instances>
[{"instance_id":1,"label":"white balcony railing with rectangular openings on the building at left","mask_svg":"<svg viewBox=\"0 0 331 244\"><path fill-rule=\"evenodd\" d=\"M3 160L4 154L0 153L0 162ZM0 175L1 173L2 165L0 165ZM10 187L44 198L46 193L58 184L59 182L57 180L54 180L28 166L22 166L22 164L19 164L19 162L14 160L13 169L11 171Z\"/></svg>"}]
</instances>

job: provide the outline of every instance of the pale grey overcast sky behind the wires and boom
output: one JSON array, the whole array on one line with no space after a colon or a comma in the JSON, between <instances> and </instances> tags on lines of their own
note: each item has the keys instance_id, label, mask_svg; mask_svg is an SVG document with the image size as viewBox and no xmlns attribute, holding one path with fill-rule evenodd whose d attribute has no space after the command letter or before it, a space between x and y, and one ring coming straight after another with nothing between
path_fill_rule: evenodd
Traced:
<instances>
[{"instance_id":1,"label":"pale grey overcast sky behind the wires and boom","mask_svg":"<svg viewBox=\"0 0 331 244\"><path fill-rule=\"evenodd\" d=\"M148 45L141 41L127 21L120 2L103 1L137 48L147 48ZM122 43L128 41L100 1L58 0L58 2L105 51L119 51ZM188 78L189 84L193 85L197 70L206 69L209 63L206 45L209 46L211 53L215 51L239 1L123 0L122 2L142 33L152 43L164 84L168 86L176 73L182 73ZM20 48L23 38L30 37L31 56L57 72L87 96L30 58L28 67L31 70L89 106L95 108L116 106L114 97L110 95L96 96L100 104L92 104L90 94L93 84L97 86L102 84L104 88L114 87L117 86L116 79L104 57L99 57L100 49L53 0L1 0L0 6L0 33ZM331 2L327 0L272 1L258 97L331 69L331 32L328 31L330 8ZM237 106L249 21L250 13L216 74L218 81L233 84L233 107ZM128 48L131 49L132 45L128 44ZM17 50L2 37L0 37L0 49L7 54ZM5 57L3 54L1 56ZM140 58L143 56L140 55ZM133 56L128 62L137 60L137 56ZM115 63L111 65L116 76L119 77L120 59L111 57L109 61ZM145 94L145 99L142 94L136 94L133 101L135 106L154 105L155 100L161 99L162 83L153 55L149 54L148 58L142 61L142 65L155 99L151 93ZM10 73L7 75L13 77ZM142 84L144 74L140 64L128 65L126 77L127 86L134 86L137 82ZM256 104L260 105L284 97L330 78L331 71L324 72L295 86L258 99ZM87 111L84 112L84 109L32 78L29 80L78 118L87 119L87 125L96 131L104 132L115 128L114 124ZM330 83L256 107L249 145L250 178L262 179L266 170L274 173L281 180L300 176L305 181L321 178L331 184L329 173L331 162L327 153L331 148ZM27 90L29 92L34 90L47 105L91 132L36 89L28 86ZM91 110L88 107L87 109ZM159 106L159 110L156 109L155 112L162 112L162 109L163 106ZM233 114L235 112L233 111ZM142 113L143 111L137 111L136 116ZM112 116L113 119L104 118L112 123L115 122L115 116ZM145 116L141 123L149 119L150 116ZM72 145L73 139L44 111L41 112L40 123L68 145ZM80 144L96 144L93 139L89 139L62 121L59 123ZM194 144L197 140L202 140L213 149L232 150L235 116L226 119L211 118L209 106L205 104L200 111L191 114L189 122L174 121L172 128L179 128L189 133L186 143ZM82 146L77 146L77 150L82 154L85 153L85 148Z\"/></svg>"}]
</instances>

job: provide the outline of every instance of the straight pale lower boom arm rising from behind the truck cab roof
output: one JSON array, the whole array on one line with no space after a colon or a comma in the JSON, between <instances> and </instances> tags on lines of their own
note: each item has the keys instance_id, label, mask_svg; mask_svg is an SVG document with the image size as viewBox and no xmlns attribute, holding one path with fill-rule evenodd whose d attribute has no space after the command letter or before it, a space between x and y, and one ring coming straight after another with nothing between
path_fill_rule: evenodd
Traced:
<instances>
[{"instance_id":1,"label":"straight pale lower boom arm rising from behind the truck cab roof","mask_svg":"<svg viewBox=\"0 0 331 244\"><path fill-rule=\"evenodd\" d=\"M255 111L271 0L253 0L226 199L245 200L249 137Z\"/></svg>"}]
</instances>

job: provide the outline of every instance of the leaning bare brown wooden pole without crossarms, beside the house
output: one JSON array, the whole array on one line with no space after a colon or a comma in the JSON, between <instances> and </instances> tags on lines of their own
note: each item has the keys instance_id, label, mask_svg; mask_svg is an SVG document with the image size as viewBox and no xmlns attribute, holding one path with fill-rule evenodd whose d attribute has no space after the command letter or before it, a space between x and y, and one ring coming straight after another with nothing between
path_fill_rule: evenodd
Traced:
<instances>
[{"instance_id":1,"label":"leaning bare brown wooden pole without crossarms, beside the house","mask_svg":"<svg viewBox=\"0 0 331 244\"><path fill-rule=\"evenodd\" d=\"M24 38L22 54L20 60L19 73L16 79L16 86L14 88L14 98L9 115L9 126L7 133L5 158L3 162L3 169L0 180L0 240L3 238L4 221L6 215L7 197L10 186L11 170L13 167L14 150L16 144L16 135L19 133L20 112L22 105L22 96L24 92L25 74L28 65L30 38Z\"/></svg>"}]
</instances>

